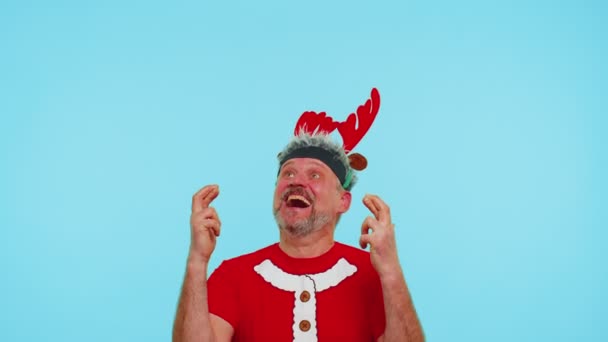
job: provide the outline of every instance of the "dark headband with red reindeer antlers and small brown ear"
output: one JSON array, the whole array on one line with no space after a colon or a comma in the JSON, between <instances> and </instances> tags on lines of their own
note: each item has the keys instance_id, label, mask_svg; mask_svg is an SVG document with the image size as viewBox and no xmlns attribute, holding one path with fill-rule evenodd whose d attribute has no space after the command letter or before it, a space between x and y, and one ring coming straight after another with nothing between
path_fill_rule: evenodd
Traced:
<instances>
[{"instance_id":1,"label":"dark headband with red reindeer antlers and small brown ear","mask_svg":"<svg viewBox=\"0 0 608 342\"><path fill-rule=\"evenodd\" d=\"M346 121L334 121L325 112L307 111L302 113L294 129L296 137L306 135L311 137L327 136L338 129L342 136L342 148L333 149L329 146L322 146L322 144L299 144L291 149L286 148L278 156L280 161L279 170L289 159L315 158L329 166L340 180L343 188L350 189L353 177L351 168L362 171L367 167L367 159L363 155L350 152L363 139L374 122L379 109L380 94L376 88L373 88L370 98L359 106L356 112L351 113Z\"/></svg>"}]
</instances>

